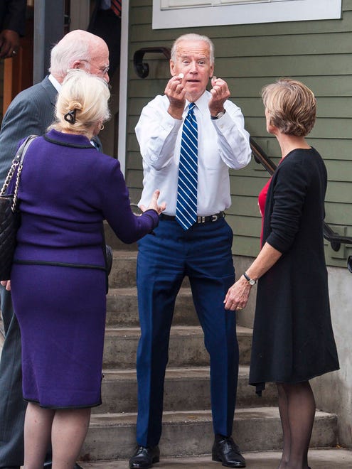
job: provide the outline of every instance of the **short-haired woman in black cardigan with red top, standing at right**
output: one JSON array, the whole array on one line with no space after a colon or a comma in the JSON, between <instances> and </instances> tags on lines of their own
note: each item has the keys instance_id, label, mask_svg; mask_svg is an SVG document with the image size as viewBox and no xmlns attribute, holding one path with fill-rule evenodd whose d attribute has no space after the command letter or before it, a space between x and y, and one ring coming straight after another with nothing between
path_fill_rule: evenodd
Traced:
<instances>
[{"instance_id":1,"label":"short-haired woman in black cardigan with red top, standing at right","mask_svg":"<svg viewBox=\"0 0 352 469\"><path fill-rule=\"evenodd\" d=\"M225 308L240 310L258 281L250 384L275 382L284 433L279 469L307 469L315 400L309 379L338 370L324 258L324 161L305 136L316 100L301 82L281 79L262 91L267 131L282 151L260 194L262 249L229 289Z\"/></svg>"}]
</instances>

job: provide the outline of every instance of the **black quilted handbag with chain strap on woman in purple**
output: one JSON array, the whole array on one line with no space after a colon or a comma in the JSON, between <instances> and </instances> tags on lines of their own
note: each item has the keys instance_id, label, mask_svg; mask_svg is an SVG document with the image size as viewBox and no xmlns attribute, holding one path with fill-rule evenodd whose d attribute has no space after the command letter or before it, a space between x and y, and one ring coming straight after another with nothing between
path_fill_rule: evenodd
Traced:
<instances>
[{"instance_id":1,"label":"black quilted handbag with chain strap on woman in purple","mask_svg":"<svg viewBox=\"0 0 352 469\"><path fill-rule=\"evenodd\" d=\"M17 207L18 185L23 168L24 156L29 144L34 138L36 138L36 135L28 136L19 147L0 192L0 280L10 279L11 266L16 247L16 233L21 223L21 213ZM6 194L6 189L14 173L16 173L14 193Z\"/></svg>"}]
</instances>

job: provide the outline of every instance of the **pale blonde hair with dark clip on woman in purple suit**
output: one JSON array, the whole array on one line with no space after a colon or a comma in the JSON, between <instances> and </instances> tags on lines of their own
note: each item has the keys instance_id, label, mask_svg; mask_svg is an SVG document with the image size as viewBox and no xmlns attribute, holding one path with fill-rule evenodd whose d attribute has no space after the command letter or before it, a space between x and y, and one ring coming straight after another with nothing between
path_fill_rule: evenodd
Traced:
<instances>
[{"instance_id":1,"label":"pale blonde hair with dark clip on woman in purple suit","mask_svg":"<svg viewBox=\"0 0 352 469\"><path fill-rule=\"evenodd\" d=\"M109 99L110 91L105 80L84 70L72 70L63 80L58 93L55 109L57 120L50 128L90 134L98 123L102 124L110 118Z\"/></svg>"}]
</instances>

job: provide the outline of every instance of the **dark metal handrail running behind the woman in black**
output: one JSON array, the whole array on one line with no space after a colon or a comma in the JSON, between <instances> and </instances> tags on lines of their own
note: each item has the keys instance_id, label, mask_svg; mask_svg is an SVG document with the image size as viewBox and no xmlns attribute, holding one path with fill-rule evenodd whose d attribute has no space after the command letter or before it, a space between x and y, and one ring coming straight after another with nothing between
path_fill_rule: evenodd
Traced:
<instances>
[{"instance_id":1,"label":"dark metal handrail running behind the woman in black","mask_svg":"<svg viewBox=\"0 0 352 469\"><path fill-rule=\"evenodd\" d=\"M268 173L272 175L275 169L277 168L276 164L270 159L269 156L267 156L267 153L265 153L265 151L257 144L256 141L252 139L252 137L250 137L250 148L252 149L252 153L256 163L260 163L262 166L264 166ZM342 243L352 244L352 237L341 236L341 234L334 232L334 230L326 222L324 222L323 232L324 238L326 239L326 241L329 241L331 249L333 249L335 252L338 252ZM349 270L349 266L352 266L352 260L348 258L348 262Z\"/></svg>"}]
</instances>

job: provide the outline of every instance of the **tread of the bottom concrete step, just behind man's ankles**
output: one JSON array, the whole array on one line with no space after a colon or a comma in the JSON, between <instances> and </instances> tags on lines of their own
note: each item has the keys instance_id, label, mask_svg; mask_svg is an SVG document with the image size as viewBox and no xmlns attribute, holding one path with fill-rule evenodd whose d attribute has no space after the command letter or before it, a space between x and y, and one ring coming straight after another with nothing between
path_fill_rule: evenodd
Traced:
<instances>
[{"instance_id":1,"label":"tread of the bottom concrete step, just behind man's ankles","mask_svg":"<svg viewBox=\"0 0 352 469\"><path fill-rule=\"evenodd\" d=\"M335 419L336 414L324 411L316 411L315 420L319 419ZM125 412L123 414L105 413L92 414L90 427L100 426L125 426L135 425L137 419L136 412ZM235 420L277 420L279 419L279 409L277 407L247 407L236 409ZM195 424L211 421L210 410L194 410L194 411L164 411L163 424Z\"/></svg>"}]
</instances>

